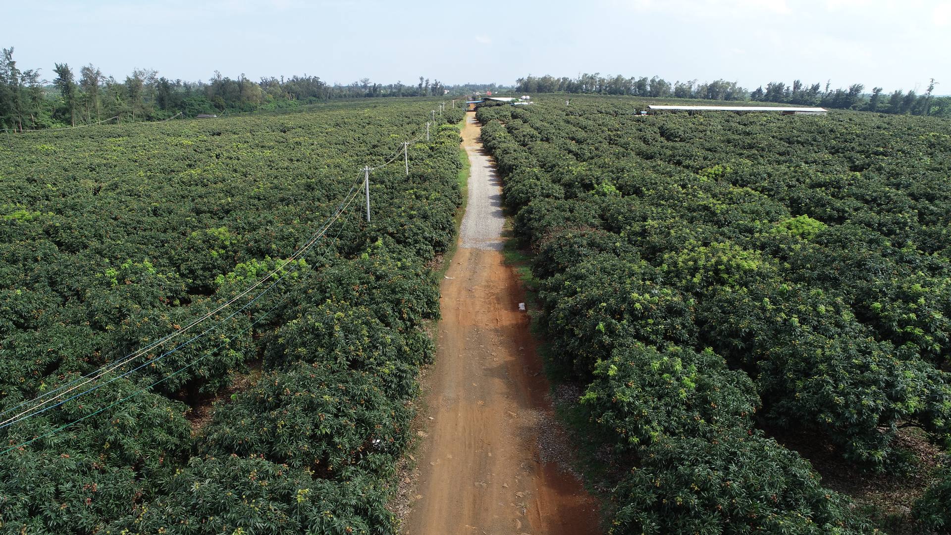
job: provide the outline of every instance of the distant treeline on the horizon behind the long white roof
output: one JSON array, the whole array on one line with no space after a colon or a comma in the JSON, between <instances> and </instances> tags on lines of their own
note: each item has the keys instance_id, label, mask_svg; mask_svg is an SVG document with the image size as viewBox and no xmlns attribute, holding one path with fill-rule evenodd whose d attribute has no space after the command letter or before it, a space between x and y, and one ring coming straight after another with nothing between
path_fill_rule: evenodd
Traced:
<instances>
[{"instance_id":1,"label":"distant treeline on the horizon behind the long white roof","mask_svg":"<svg viewBox=\"0 0 951 535\"><path fill-rule=\"evenodd\" d=\"M897 89L892 93L883 93L882 88L874 88L865 93L863 84L852 84L847 89L831 89L830 83L806 86L801 80L791 85L785 82L769 82L752 91L739 86L736 82L714 80L712 82L676 81L673 84L654 76L626 78L601 76L600 73L582 74L577 78L567 76L555 78L551 75L519 78L515 89L520 92L534 93L597 93L609 95L631 95L653 98L696 98L703 100L758 101L795 104L801 106L822 106L832 109L859 109L879 113L938 115L951 117L951 97L935 96L937 82L932 78L928 88L921 94L915 90L904 92Z\"/></svg>"}]
</instances>

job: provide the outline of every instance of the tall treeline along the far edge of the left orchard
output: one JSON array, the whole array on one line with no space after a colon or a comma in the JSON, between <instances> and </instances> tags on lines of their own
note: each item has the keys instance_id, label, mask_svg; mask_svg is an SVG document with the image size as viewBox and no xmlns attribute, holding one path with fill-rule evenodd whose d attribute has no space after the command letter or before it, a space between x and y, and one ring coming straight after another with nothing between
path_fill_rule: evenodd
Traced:
<instances>
[{"instance_id":1,"label":"tall treeline along the far edge of the left orchard","mask_svg":"<svg viewBox=\"0 0 951 535\"><path fill-rule=\"evenodd\" d=\"M368 78L347 85L327 84L318 76L235 79L217 70L207 82L159 76L154 69L135 69L125 79L106 76L87 65L78 71L57 63L52 80L41 69L21 70L13 49L0 58L0 129L48 129L95 123L111 117L126 121L155 121L184 114L225 110L286 109L334 98L404 97L465 94L497 90L495 84L457 88L419 77L417 84L378 84Z\"/></svg>"}]
</instances>

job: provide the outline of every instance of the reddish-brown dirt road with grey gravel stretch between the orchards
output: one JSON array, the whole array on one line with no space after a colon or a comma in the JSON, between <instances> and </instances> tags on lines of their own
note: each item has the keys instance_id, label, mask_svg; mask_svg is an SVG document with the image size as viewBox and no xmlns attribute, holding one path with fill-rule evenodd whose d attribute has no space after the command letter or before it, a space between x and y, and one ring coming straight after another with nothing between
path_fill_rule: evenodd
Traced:
<instances>
[{"instance_id":1,"label":"reddish-brown dirt road with grey gravel stretch between the orchards","mask_svg":"<svg viewBox=\"0 0 951 535\"><path fill-rule=\"evenodd\" d=\"M518 309L521 287L499 251L504 218L495 166L475 119L466 121L469 204L442 282L419 483L403 533L596 533L591 498L559 462L567 444L528 317Z\"/></svg>"}]
</instances>

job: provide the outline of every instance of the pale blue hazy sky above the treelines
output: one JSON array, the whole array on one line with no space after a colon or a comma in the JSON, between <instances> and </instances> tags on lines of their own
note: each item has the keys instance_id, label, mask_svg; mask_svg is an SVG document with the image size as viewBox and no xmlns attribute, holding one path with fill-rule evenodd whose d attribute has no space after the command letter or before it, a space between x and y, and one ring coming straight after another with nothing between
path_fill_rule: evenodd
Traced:
<instances>
[{"instance_id":1,"label":"pale blue hazy sky above the treelines","mask_svg":"<svg viewBox=\"0 0 951 535\"><path fill-rule=\"evenodd\" d=\"M770 80L951 93L951 0L0 0L0 46L54 62L207 80L512 84L528 73ZM493 5L498 6L493 8Z\"/></svg>"}]
</instances>

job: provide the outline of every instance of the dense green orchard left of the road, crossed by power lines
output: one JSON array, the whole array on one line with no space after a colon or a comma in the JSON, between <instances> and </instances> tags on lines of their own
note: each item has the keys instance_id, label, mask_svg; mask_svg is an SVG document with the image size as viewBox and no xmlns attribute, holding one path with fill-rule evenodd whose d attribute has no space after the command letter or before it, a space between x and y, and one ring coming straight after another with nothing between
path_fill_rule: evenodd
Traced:
<instances>
[{"instance_id":1,"label":"dense green orchard left of the road, crossed by power lines","mask_svg":"<svg viewBox=\"0 0 951 535\"><path fill-rule=\"evenodd\" d=\"M233 305L148 365L0 428L0 531L395 534L386 505L434 353L428 266L454 240L465 112L437 113L407 148L408 176L374 170L372 222L362 197L340 202L430 109L392 99L3 139L4 419Z\"/></svg>"}]
</instances>

